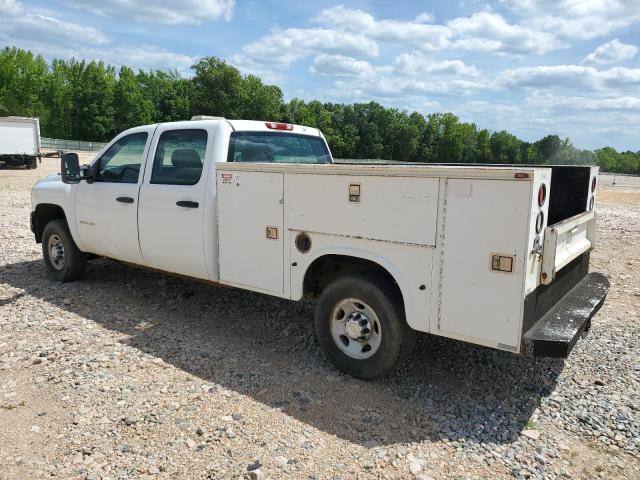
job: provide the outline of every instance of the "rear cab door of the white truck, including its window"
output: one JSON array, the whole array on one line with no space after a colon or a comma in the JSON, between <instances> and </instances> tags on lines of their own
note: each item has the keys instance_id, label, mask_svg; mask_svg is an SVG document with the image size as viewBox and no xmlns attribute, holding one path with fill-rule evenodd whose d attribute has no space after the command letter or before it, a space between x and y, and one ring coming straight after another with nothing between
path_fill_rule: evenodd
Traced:
<instances>
[{"instance_id":1,"label":"rear cab door of the white truck, including its window","mask_svg":"<svg viewBox=\"0 0 640 480\"><path fill-rule=\"evenodd\" d=\"M195 125L156 130L138 207L140 248L151 268L209 278L203 211L213 133Z\"/></svg>"}]
</instances>

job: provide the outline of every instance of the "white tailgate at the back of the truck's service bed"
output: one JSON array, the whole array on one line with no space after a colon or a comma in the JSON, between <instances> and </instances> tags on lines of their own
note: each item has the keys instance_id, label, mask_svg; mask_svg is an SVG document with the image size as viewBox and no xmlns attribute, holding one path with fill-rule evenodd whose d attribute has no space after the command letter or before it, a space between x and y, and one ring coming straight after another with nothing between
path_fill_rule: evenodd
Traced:
<instances>
[{"instance_id":1,"label":"white tailgate at the back of the truck's service bed","mask_svg":"<svg viewBox=\"0 0 640 480\"><path fill-rule=\"evenodd\" d=\"M573 259L595 247L595 213L581 213L547 227L544 233L540 281L549 284Z\"/></svg>"}]
</instances>

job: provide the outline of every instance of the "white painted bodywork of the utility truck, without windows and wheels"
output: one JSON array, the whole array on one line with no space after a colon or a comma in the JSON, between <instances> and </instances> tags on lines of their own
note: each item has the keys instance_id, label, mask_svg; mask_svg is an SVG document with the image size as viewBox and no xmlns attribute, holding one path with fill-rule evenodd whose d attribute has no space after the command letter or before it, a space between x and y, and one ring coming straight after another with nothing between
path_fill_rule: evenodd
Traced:
<instances>
[{"instance_id":1,"label":"white painted bodywork of the utility truck, without windows and wheels","mask_svg":"<svg viewBox=\"0 0 640 480\"><path fill-rule=\"evenodd\" d=\"M162 166L163 134L194 129L207 138L197 182L154 182L158 168L173 168ZM542 328L545 313L585 281L595 246L597 167L566 171L585 183L567 197L568 211L549 201L550 167L243 162L230 153L230 139L243 132L324 143L316 129L273 129L269 122L210 119L131 129L92 165L122 138L142 135L137 179L38 182L36 239L52 215L43 212L59 207L82 252L292 300L322 291L332 275L325 270L366 265L393 279L411 329L515 353L526 353L525 334ZM558 172L558 179L569 175ZM547 225L550 215L567 218ZM305 248L298 238L308 241L300 244ZM567 278L547 288L561 283L556 276ZM604 300L606 281L597 280L588 319L556 356L568 354ZM556 292L552 300L547 290ZM555 340L537 354L553 350Z\"/></svg>"}]
</instances>

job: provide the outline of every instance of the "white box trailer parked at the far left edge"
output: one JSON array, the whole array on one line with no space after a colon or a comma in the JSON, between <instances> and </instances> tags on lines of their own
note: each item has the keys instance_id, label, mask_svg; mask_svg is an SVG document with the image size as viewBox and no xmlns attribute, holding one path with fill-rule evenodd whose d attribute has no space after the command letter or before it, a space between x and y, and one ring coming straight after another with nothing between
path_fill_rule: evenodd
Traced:
<instances>
[{"instance_id":1,"label":"white box trailer parked at the far left edge","mask_svg":"<svg viewBox=\"0 0 640 480\"><path fill-rule=\"evenodd\" d=\"M36 168L40 158L40 120L0 117L0 166Z\"/></svg>"}]
</instances>

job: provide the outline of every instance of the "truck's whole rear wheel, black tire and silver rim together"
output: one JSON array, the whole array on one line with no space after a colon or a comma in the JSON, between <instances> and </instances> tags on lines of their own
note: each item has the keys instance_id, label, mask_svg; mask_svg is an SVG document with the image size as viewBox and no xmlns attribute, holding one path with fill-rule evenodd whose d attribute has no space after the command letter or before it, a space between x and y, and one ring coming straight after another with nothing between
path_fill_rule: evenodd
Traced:
<instances>
[{"instance_id":1,"label":"truck's whole rear wheel, black tire and silver rim together","mask_svg":"<svg viewBox=\"0 0 640 480\"><path fill-rule=\"evenodd\" d=\"M393 372L413 348L395 286L377 278L349 275L329 284L315 314L318 343L340 370L365 380Z\"/></svg>"}]
</instances>

